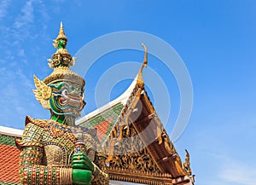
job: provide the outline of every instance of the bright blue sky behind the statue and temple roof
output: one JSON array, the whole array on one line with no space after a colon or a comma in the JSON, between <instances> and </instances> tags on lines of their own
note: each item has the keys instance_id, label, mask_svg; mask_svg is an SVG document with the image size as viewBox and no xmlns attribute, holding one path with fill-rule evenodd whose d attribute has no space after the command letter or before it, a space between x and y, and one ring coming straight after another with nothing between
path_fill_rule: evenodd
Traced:
<instances>
[{"instance_id":1,"label":"bright blue sky behind the statue and temple roof","mask_svg":"<svg viewBox=\"0 0 256 185\"><path fill-rule=\"evenodd\" d=\"M175 142L184 159L190 152L197 185L253 185L256 170L256 3L255 1L15 1L0 2L1 125L23 129L26 115L49 118L32 94L32 75L44 79L52 39L60 21L75 55L84 44L111 32L147 32L172 45L187 66L194 90L188 127ZM144 42L144 41L139 41ZM157 48L157 45L155 46ZM149 51L150 49L148 49ZM143 61L143 52L104 55L85 75L84 113L96 108L95 84L111 66ZM165 66L148 56L148 68L166 82L172 133L179 91ZM149 69L144 70L145 75ZM129 69L130 70L130 69ZM147 71L148 70L148 71ZM136 70L131 70L136 75ZM145 78L147 84L147 78ZM129 82L117 84L113 99ZM150 82L148 82L150 84ZM126 86L125 86L126 85ZM150 92L150 87L148 87ZM154 99L154 92L149 93ZM161 115L160 110L157 112Z\"/></svg>"}]
</instances>

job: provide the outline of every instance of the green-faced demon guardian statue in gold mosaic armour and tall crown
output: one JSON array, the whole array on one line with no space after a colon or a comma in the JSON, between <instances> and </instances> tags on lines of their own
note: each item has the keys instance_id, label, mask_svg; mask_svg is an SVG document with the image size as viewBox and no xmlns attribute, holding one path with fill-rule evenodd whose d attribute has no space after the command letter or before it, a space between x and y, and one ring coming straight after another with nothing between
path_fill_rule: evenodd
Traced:
<instances>
[{"instance_id":1,"label":"green-faced demon guardian statue in gold mosaic armour and tall crown","mask_svg":"<svg viewBox=\"0 0 256 185\"><path fill-rule=\"evenodd\" d=\"M75 63L66 49L61 24L49 59L53 72L43 81L34 76L37 100L50 119L26 117L20 149L20 181L27 185L109 184L105 157L93 133L75 127L84 103L84 79L70 70Z\"/></svg>"}]
</instances>

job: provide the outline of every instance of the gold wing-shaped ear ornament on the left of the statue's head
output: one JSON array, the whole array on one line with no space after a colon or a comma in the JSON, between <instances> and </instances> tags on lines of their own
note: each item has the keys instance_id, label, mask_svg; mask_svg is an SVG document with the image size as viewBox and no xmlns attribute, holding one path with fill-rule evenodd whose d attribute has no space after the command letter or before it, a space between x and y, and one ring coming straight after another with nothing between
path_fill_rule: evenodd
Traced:
<instances>
[{"instance_id":1,"label":"gold wing-shaped ear ornament on the left of the statue's head","mask_svg":"<svg viewBox=\"0 0 256 185\"><path fill-rule=\"evenodd\" d=\"M44 84L44 82L38 79L35 75L34 84L37 88L37 90L33 90L36 99L45 109L49 109L49 98L52 93L51 88L47 84Z\"/></svg>"}]
</instances>

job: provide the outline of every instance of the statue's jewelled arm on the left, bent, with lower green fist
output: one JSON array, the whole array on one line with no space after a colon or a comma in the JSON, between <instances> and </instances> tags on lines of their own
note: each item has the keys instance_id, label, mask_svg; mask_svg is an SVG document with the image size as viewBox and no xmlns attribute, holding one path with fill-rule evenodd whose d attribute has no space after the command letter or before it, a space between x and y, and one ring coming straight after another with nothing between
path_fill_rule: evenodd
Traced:
<instances>
[{"instance_id":1,"label":"statue's jewelled arm on the left, bent, with lower green fist","mask_svg":"<svg viewBox=\"0 0 256 185\"><path fill-rule=\"evenodd\" d=\"M44 163L44 129L35 124L26 124L22 140L16 140L20 148L20 182L26 185L42 184L90 184L91 172L68 167L47 166ZM76 181L76 177L79 181Z\"/></svg>"}]
</instances>

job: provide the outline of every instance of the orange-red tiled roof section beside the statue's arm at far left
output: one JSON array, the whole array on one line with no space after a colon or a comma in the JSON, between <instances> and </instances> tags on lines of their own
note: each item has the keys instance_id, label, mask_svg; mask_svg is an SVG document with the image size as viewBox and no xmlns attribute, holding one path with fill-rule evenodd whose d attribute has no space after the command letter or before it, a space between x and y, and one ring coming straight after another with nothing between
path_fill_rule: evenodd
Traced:
<instances>
[{"instance_id":1,"label":"orange-red tiled roof section beside the statue's arm at far left","mask_svg":"<svg viewBox=\"0 0 256 185\"><path fill-rule=\"evenodd\" d=\"M0 144L0 182L20 182L20 150L17 147Z\"/></svg>"}]
</instances>

